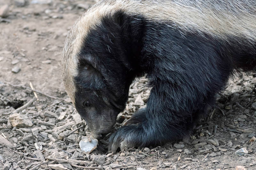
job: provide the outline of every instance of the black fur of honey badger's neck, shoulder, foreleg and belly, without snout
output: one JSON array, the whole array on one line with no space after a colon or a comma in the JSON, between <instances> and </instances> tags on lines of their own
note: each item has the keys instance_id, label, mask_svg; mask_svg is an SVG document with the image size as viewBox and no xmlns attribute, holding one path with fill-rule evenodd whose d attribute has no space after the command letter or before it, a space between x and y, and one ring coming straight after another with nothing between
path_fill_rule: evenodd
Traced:
<instances>
[{"instance_id":1,"label":"black fur of honey badger's neck, shoulder, foreleg and belly, without snout","mask_svg":"<svg viewBox=\"0 0 256 170\"><path fill-rule=\"evenodd\" d=\"M255 42L233 38L224 41L202 32L185 32L172 22L153 22L122 11L102 18L84 39L80 53L80 63L94 69L94 78L77 77L79 89L96 89L99 97L94 100L108 96L120 112L134 78L146 75L152 88L147 107L132 116L130 125L112 134L110 149L115 151L123 140L135 147L189 135L229 76L256 65ZM81 91L77 100L84 100Z\"/></svg>"}]
</instances>

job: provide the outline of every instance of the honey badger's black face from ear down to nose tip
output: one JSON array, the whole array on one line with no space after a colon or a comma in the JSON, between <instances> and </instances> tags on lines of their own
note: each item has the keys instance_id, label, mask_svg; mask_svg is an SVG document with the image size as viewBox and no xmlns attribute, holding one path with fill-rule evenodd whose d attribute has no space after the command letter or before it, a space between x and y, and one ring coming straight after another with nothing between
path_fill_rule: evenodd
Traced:
<instances>
[{"instance_id":1,"label":"honey badger's black face from ear down to nose tip","mask_svg":"<svg viewBox=\"0 0 256 170\"><path fill-rule=\"evenodd\" d=\"M89 64L81 64L76 78L75 107L84 118L93 137L100 139L111 132L116 116L124 109L115 89L108 87L104 77Z\"/></svg>"}]
</instances>

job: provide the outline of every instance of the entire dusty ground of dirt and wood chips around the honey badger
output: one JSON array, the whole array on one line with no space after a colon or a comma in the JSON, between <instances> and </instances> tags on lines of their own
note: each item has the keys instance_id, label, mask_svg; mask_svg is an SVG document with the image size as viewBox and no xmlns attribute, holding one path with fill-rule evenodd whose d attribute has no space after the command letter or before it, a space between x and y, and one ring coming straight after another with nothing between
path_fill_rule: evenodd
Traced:
<instances>
[{"instance_id":1,"label":"entire dusty ground of dirt and wood chips around the honey badger","mask_svg":"<svg viewBox=\"0 0 256 170\"><path fill-rule=\"evenodd\" d=\"M4 5L9 5L0 18L0 168L256 169L253 74L230 81L190 138L112 154L107 152L107 136L91 154L81 151L81 137L91 134L64 91L61 47L70 26L94 3L0 0L2 12ZM20 71L12 72L15 70ZM15 110L33 100L30 82L50 97L36 92L39 100ZM142 78L132 84L116 128L134 111L145 107L149 93L146 82ZM14 112L23 117L25 124L13 127ZM236 155L241 148L245 150L243 156Z\"/></svg>"}]
</instances>

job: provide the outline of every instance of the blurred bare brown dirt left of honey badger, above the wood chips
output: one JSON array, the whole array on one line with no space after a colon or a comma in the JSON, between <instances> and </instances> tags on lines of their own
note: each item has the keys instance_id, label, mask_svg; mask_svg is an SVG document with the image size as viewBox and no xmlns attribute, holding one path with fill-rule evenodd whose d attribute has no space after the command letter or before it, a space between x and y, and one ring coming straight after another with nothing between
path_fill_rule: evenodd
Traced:
<instances>
[{"instance_id":1,"label":"blurred bare brown dirt left of honey badger, above the wood chips","mask_svg":"<svg viewBox=\"0 0 256 170\"><path fill-rule=\"evenodd\" d=\"M62 45L76 18L96 1L0 0L0 81L31 82L36 90L62 94Z\"/></svg>"}]
</instances>

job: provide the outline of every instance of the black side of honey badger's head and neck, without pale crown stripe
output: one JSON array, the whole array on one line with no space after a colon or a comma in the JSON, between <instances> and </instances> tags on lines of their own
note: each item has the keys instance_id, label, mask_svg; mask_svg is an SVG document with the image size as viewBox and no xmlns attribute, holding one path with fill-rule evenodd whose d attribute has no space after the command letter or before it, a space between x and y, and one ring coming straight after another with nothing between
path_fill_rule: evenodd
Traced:
<instances>
[{"instance_id":1,"label":"black side of honey badger's head and neck, without pale crown stripe","mask_svg":"<svg viewBox=\"0 0 256 170\"><path fill-rule=\"evenodd\" d=\"M132 80L142 72L140 20L121 11L108 17L90 29L77 56L75 106L95 138L111 131Z\"/></svg>"}]
</instances>

